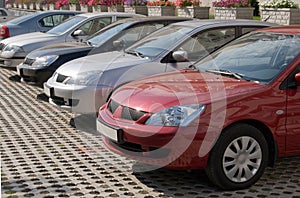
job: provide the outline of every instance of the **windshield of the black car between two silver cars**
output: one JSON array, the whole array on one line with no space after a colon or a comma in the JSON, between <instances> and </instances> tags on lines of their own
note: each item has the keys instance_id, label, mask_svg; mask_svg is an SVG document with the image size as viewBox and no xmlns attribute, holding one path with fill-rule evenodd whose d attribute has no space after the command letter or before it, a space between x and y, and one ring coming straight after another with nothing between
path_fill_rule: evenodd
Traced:
<instances>
[{"instance_id":1,"label":"windshield of the black car between two silver cars","mask_svg":"<svg viewBox=\"0 0 300 198\"><path fill-rule=\"evenodd\" d=\"M97 32L95 35L90 37L87 42L92 46L100 46L131 24L132 22L113 24Z\"/></svg>"}]
</instances>

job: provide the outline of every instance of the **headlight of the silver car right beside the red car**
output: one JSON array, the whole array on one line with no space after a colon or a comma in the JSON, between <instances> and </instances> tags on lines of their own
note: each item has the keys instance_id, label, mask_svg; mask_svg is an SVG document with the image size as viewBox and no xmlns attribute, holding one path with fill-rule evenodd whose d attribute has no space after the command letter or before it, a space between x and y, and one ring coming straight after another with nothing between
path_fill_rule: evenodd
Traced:
<instances>
[{"instance_id":1,"label":"headlight of the silver car right beside the red car","mask_svg":"<svg viewBox=\"0 0 300 198\"><path fill-rule=\"evenodd\" d=\"M101 78L102 73L103 71L88 71L79 73L75 77L70 77L69 80L66 81L66 84L96 86Z\"/></svg>"}]
</instances>

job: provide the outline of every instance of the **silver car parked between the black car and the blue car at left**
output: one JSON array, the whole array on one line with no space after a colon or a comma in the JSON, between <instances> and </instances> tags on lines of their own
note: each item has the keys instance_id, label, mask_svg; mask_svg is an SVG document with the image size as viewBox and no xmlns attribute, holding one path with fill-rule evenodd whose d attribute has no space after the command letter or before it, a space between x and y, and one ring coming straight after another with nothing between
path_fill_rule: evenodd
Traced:
<instances>
[{"instance_id":1,"label":"silver car parked between the black car and the blue car at left","mask_svg":"<svg viewBox=\"0 0 300 198\"><path fill-rule=\"evenodd\" d=\"M79 41L119 19L143 16L129 13L86 13L70 18L46 33L34 32L4 39L0 43L0 66L16 67L25 56L49 44Z\"/></svg>"}]
</instances>

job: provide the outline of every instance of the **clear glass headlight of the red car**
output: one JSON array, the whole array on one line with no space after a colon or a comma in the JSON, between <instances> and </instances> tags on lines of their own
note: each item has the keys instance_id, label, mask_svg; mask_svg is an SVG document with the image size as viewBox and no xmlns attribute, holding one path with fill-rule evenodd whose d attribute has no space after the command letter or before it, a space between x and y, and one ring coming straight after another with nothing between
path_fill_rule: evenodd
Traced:
<instances>
[{"instance_id":1,"label":"clear glass headlight of the red car","mask_svg":"<svg viewBox=\"0 0 300 198\"><path fill-rule=\"evenodd\" d=\"M146 121L147 125L188 126L205 110L205 105L189 104L163 109Z\"/></svg>"}]
</instances>

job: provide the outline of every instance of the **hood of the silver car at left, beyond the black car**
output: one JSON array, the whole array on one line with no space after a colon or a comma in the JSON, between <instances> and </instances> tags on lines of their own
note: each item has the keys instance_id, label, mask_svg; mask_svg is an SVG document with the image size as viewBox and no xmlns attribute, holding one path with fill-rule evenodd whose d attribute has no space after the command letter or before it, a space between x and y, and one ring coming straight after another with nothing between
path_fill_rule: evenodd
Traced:
<instances>
[{"instance_id":1,"label":"hood of the silver car at left, beyond the black car","mask_svg":"<svg viewBox=\"0 0 300 198\"><path fill-rule=\"evenodd\" d=\"M16 45L22 47L25 51L32 51L45 46L46 43L59 42L59 38L60 37L55 34L33 32L4 39L1 43L5 45Z\"/></svg>"}]
</instances>

